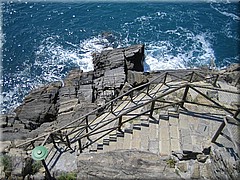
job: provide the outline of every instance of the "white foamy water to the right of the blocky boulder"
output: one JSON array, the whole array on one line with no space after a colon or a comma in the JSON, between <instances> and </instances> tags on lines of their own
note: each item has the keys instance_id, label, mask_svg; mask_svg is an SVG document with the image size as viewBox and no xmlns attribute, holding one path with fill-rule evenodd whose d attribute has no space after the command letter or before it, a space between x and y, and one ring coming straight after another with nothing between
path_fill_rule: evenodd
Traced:
<instances>
[{"instance_id":1,"label":"white foamy water to the right of the blocky boulder","mask_svg":"<svg viewBox=\"0 0 240 180\"><path fill-rule=\"evenodd\" d=\"M215 59L214 50L207 40L207 34L194 35L187 31L184 34L180 33L179 30L168 30L166 33L174 33L180 36L179 40L181 39L182 42L179 46L170 40L147 44L145 71L209 66L210 60Z\"/></svg>"}]
</instances>

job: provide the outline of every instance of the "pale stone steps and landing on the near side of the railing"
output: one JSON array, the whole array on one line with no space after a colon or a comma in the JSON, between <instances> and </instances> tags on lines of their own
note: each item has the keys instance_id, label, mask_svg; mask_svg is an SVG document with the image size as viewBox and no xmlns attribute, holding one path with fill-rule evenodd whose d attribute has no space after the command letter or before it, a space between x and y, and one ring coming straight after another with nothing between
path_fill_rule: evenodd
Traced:
<instances>
[{"instance_id":1,"label":"pale stone steps and landing on the near side of the railing","mask_svg":"<svg viewBox=\"0 0 240 180\"><path fill-rule=\"evenodd\" d=\"M192 109L213 112L213 109L186 105L187 109L162 110L159 114L142 115L98 140L89 152L107 152L119 149L150 151L162 156L172 153L202 153L220 126L223 114L196 117ZM202 109L201 109L202 108ZM200 115L199 115L200 116ZM212 120L209 120L212 118Z\"/></svg>"}]
</instances>

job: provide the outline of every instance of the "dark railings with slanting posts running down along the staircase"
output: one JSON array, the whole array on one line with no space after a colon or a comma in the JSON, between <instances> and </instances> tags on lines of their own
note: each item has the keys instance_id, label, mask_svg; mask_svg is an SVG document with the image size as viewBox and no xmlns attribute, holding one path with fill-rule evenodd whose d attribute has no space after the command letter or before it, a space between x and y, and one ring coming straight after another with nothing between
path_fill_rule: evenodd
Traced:
<instances>
[{"instance_id":1,"label":"dark railings with slanting posts running down along the staircase","mask_svg":"<svg viewBox=\"0 0 240 180\"><path fill-rule=\"evenodd\" d=\"M211 73L210 73L210 75L211 75ZM215 74L213 73L213 75L215 75ZM140 104L140 105L136 105L135 107L132 107L132 108L126 110L125 112L121 112L120 114L117 114L117 115L114 115L112 112L107 113L107 116L110 115L110 114L111 114L111 115L114 115L114 116L113 116L112 118L108 119L107 122L105 121L105 123L102 124L102 125L100 125L100 126L98 126L98 125L101 124L101 121L100 121L100 122L97 122L97 124L94 124L94 121L95 121L97 118L93 119L91 122L88 121L88 117L89 117L90 115L95 115L99 110L104 109L104 107L105 107L105 108L107 107L106 109L108 109L108 107L111 107L111 109L113 110L114 103L116 103L118 100L122 99L124 96L129 96L129 95L132 94L133 92L139 92L139 90L141 90L141 89L149 89L149 88L150 88L150 85L152 85L152 84L156 84L156 86L157 86L158 83L168 84L168 83L170 83L170 82L173 82L172 80L171 80L171 81L167 81L167 77L171 77L171 76L174 77L174 78L176 78L176 80L186 81L186 82L190 82L190 83L194 80L194 76L198 76L198 77L200 77L200 78L204 78L204 77L202 77L202 75L198 74L198 73L195 72L195 71L189 71L188 74L185 74L184 77L190 76L189 79L188 79L188 78L184 78L184 77L180 77L180 76L176 76L176 75L173 74L173 72L171 72L171 71L166 71L166 72L164 72L164 73L161 73L159 76L153 78L153 79L152 79L151 81L149 81L148 83L145 83L145 84L142 84L142 85L140 85L140 86L137 86L137 87L132 88L130 91L121 94L121 95L118 96L117 98L114 98L113 100L105 103L103 106L100 106L99 108L96 108L95 110L93 110L93 111L91 111L91 112L89 112L89 113L81 116L80 118L75 119L75 120L73 120L72 122L67 123L66 125L64 125L64 126L62 126L62 127L60 127L60 128L57 128L57 129L55 129L55 130L53 130L53 131L51 131L51 132L45 133L45 134L43 134L43 135L40 135L39 137L36 137L36 138L34 138L34 139L31 139L31 140L28 140L28 141L26 141L26 142L24 142L24 143L21 143L21 144L17 145L17 147L30 146L30 145L34 146L34 142L35 142L35 141L38 141L38 140L40 140L40 139L42 139L42 138L44 138L44 140L43 140L43 142L42 142L42 145L44 145L44 144L47 142L47 140L49 139L49 137L51 138L51 141L54 143L54 145L56 145L54 138L57 139L57 136L63 136L63 138L61 137L61 138L58 138L58 139L59 139L60 141L61 141L61 140L65 140L66 143L68 144L68 146L69 146L70 148L71 148L71 143L79 142L79 145L81 145L81 147L80 147L80 152L81 152L81 151L83 150L82 147L83 147L83 148L86 148L86 147L88 147L90 144L93 144L94 142L97 141L96 139L95 139L95 140L90 140L90 136L93 137L94 135L96 136L97 134L103 133L103 134L101 134L101 138L102 138L102 137L104 137L104 136L106 136L107 134L110 133L110 132L109 132L110 129L111 129L111 132L114 131L114 130L116 130L116 129L119 129L119 128L120 128L119 126L121 126L123 123L126 123L126 121L120 122L120 119L122 118L122 116L127 115L128 113L130 113L130 112L132 112L132 111L134 111L134 110L136 110L136 109L138 109L138 108L140 108L140 107L143 107L143 106L151 103L150 109L148 109L146 112L150 112L150 115L152 115L153 110L156 109L156 107L155 107L155 101L157 101L158 99L163 98L163 97L165 97L165 96L167 96L167 95L169 95L169 94L171 94L171 93L173 93L173 92L176 92L177 90L180 90L180 89L185 88L185 91L186 91L186 94L187 94L187 93L188 93L188 92L187 92L188 90L186 90L186 89L187 89L187 88L189 89L189 87L192 88L192 89L195 90L195 91L196 91L196 88L200 88L200 87L201 87L201 88L208 88L208 89L209 89L209 87L202 87L202 86L199 86L199 85L193 85L193 84L188 84L188 83L187 83L187 84L184 84L184 85L180 85L179 87L169 87L169 90L168 90L167 92L165 92L165 93L163 92L161 95L154 97L154 96L156 95L156 94L155 94L155 95L153 95L153 97L151 97L148 101L146 101L146 102L144 102L144 103L142 103L142 104ZM212 78L215 78L215 77L212 77ZM210 79L211 79L211 78L210 78ZM176 80L174 80L174 81L176 81ZM202 80L204 80L204 79L202 79ZM214 82L215 82L215 81L216 81L216 80L214 80ZM156 87L156 86L154 86L154 87ZM213 88L213 89L214 89L214 90L221 90L221 89L219 89L219 88ZM158 91L159 91L159 90L157 90L157 92L158 92ZM222 90L222 91L223 91L223 90ZM142 91L142 92L143 92L143 91ZM148 94L149 92L150 92L150 91L147 90L147 94ZM210 101L212 101L213 103L215 103L218 108L223 109L223 110L227 111L228 113L231 113L231 115L232 115L232 112L231 112L231 111L232 111L233 109L231 109L231 111L230 111L228 108L222 107L219 103L216 103L214 100L212 100L211 98L207 97L206 95L204 95L204 94L201 93L200 91L197 90L196 92L197 92L197 93L200 93L200 94L203 95L205 98L207 98L208 100L210 100ZM228 93L236 93L236 92L233 92L233 91L225 91L225 92L228 92ZM140 93L141 93L141 91L140 91ZM186 95L184 95L184 96L186 96ZM132 99L132 101L134 101L134 99ZM190 103L189 101L186 100L186 97L183 97L183 99L182 99L181 101L179 101L179 102L174 102L174 104L179 104L179 105L182 105L182 106L183 106L185 102L186 102L186 103ZM239 111L239 110L236 110L236 111ZM146 113L146 112L144 112L144 113ZM107 117L107 116L106 116L106 117ZM112 123L112 122L114 122L114 121L116 121L116 122L119 121L119 122L118 122L118 126L115 126L115 127L113 128L114 130L113 130L112 128L106 128L107 125L109 125L110 123ZM96 123L96 122L95 122L95 123ZM93 125L95 125L95 128L94 128ZM71 129L70 127L73 128L70 132L68 132L67 134L63 134L63 133L62 133L64 130L67 131L67 129ZM102 128L105 128L105 129L102 129ZM99 130L99 131L98 131L98 130ZM105 131L107 131L107 132L104 133ZM69 136L71 136L71 135L74 134L74 133L77 133L76 136L73 136L72 138L69 139ZM65 137L65 138L64 138L64 137ZM86 146L86 144L84 145L84 144L81 142L81 139L82 139L82 138L87 138L87 139L89 140L89 142L86 143L87 146ZM101 139L101 138L97 137L98 140Z\"/></svg>"}]
</instances>

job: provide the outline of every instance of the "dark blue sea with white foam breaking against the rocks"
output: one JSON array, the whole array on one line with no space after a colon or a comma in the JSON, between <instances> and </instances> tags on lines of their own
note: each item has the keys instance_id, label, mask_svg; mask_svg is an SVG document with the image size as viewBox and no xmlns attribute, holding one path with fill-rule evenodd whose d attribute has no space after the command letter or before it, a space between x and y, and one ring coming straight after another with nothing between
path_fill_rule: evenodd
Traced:
<instances>
[{"instance_id":1,"label":"dark blue sea with white foam breaking against the rocks","mask_svg":"<svg viewBox=\"0 0 240 180\"><path fill-rule=\"evenodd\" d=\"M93 70L91 54L145 44L145 71L217 68L239 61L240 3L1 3L1 113L32 89L73 68Z\"/></svg>"}]
</instances>

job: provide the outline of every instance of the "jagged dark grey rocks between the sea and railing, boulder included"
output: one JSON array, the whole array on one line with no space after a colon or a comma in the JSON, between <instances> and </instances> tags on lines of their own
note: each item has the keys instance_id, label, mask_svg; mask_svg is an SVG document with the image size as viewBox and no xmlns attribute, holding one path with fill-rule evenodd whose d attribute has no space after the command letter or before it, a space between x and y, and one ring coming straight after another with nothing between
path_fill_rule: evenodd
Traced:
<instances>
[{"instance_id":1,"label":"jagged dark grey rocks between the sea and railing, boulder included","mask_svg":"<svg viewBox=\"0 0 240 180\"><path fill-rule=\"evenodd\" d=\"M60 127L117 97L124 88L146 82L143 61L143 45L93 54L94 71L73 69L63 82L30 92L15 115L2 115L2 140L31 138L46 128Z\"/></svg>"}]
</instances>

